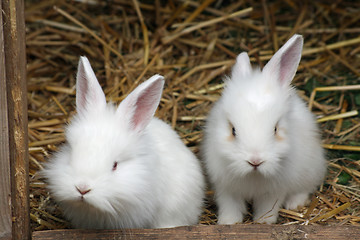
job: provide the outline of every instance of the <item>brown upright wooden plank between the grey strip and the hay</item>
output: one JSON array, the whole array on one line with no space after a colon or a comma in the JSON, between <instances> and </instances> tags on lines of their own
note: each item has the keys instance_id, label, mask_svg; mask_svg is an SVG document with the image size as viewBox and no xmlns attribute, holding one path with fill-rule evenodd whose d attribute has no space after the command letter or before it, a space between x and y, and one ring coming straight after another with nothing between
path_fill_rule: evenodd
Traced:
<instances>
[{"instance_id":1,"label":"brown upright wooden plank between the grey strip and the hay","mask_svg":"<svg viewBox=\"0 0 360 240\"><path fill-rule=\"evenodd\" d=\"M2 0L8 108L12 239L30 239L25 19L23 0Z\"/></svg>"}]
</instances>

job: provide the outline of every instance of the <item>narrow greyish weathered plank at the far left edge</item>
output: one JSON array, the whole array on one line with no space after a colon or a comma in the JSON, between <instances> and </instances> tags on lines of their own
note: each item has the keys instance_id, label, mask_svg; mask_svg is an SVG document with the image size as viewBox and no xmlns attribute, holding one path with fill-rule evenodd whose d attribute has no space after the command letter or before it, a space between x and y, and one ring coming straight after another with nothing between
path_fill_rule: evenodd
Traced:
<instances>
[{"instance_id":1,"label":"narrow greyish weathered plank at the far left edge","mask_svg":"<svg viewBox=\"0 0 360 240\"><path fill-rule=\"evenodd\" d=\"M0 5L0 11L2 8ZM0 14L0 239L11 239L11 182L2 14Z\"/></svg>"}]
</instances>

